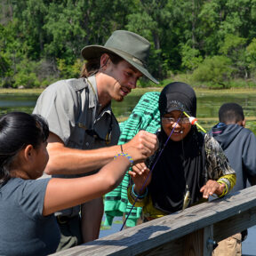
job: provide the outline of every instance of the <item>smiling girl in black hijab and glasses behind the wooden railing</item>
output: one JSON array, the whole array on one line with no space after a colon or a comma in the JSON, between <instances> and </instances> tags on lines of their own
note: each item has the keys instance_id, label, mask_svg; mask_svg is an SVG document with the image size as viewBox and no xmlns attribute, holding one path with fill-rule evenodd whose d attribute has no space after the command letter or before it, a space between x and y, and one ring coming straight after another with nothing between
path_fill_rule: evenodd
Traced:
<instances>
[{"instance_id":1,"label":"smiling girl in black hijab and glasses behind the wooden railing","mask_svg":"<svg viewBox=\"0 0 256 256\"><path fill-rule=\"evenodd\" d=\"M159 111L159 150L129 172L134 184L128 198L133 204L138 197L135 206L143 207L144 220L180 211L213 194L224 196L236 183L235 171L218 142L198 132L184 114L196 117L192 87L179 82L166 85L159 97Z\"/></svg>"}]
</instances>

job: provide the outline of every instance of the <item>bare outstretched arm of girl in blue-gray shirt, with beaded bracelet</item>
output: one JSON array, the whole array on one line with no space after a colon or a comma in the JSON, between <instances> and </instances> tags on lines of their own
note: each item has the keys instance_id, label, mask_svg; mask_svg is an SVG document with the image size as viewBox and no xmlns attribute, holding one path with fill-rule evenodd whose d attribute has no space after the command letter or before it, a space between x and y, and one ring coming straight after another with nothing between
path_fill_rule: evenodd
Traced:
<instances>
[{"instance_id":1,"label":"bare outstretched arm of girl in blue-gray shirt, with beaded bracelet","mask_svg":"<svg viewBox=\"0 0 256 256\"><path fill-rule=\"evenodd\" d=\"M146 159L142 151L125 148L124 153L132 156L136 164ZM76 179L51 179L44 196L43 215L83 204L108 193L121 182L130 164L127 156L117 156L96 174Z\"/></svg>"}]
</instances>

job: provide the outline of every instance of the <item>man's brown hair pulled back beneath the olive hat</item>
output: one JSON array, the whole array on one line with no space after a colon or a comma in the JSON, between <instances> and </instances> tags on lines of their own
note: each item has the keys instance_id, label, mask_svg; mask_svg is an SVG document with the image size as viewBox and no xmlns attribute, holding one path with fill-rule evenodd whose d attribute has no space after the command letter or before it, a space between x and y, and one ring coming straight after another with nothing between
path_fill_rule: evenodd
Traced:
<instances>
[{"instance_id":1,"label":"man's brown hair pulled back beneath the olive hat","mask_svg":"<svg viewBox=\"0 0 256 256\"><path fill-rule=\"evenodd\" d=\"M119 57L118 55L116 55L115 53L108 53L109 59L116 65L118 64L122 59L121 57ZM92 74L97 73L100 70L100 57L94 58L94 59L90 59L90 60L86 60L86 62L84 63L82 70L81 70L81 77L89 77L92 76Z\"/></svg>"}]
</instances>

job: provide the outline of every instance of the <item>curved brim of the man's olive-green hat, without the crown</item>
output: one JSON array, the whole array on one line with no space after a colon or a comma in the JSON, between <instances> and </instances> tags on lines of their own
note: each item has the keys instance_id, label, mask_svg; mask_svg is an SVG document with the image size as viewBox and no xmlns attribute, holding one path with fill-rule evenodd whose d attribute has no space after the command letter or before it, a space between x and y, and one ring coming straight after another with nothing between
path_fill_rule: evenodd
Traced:
<instances>
[{"instance_id":1,"label":"curved brim of the man's olive-green hat, without the crown","mask_svg":"<svg viewBox=\"0 0 256 256\"><path fill-rule=\"evenodd\" d=\"M88 46L85 46L81 51L82 56L84 57L84 60L91 60L91 59L100 57L100 55L103 53L108 53L108 52L115 53L116 55L120 56L122 59L124 59L128 63L130 63L132 65L132 67L139 70L140 73L142 73L144 76L146 76L149 80L151 80L155 84L159 84L159 82L153 76L150 75L147 68L144 68L139 63L132 60L132 58L130 58L130 56L127 56L127 53L125 53L125 52L122 52L122 51L114 49L114 48L101 46L101 45L88 45Z\"/></svg>"}]
</instances>

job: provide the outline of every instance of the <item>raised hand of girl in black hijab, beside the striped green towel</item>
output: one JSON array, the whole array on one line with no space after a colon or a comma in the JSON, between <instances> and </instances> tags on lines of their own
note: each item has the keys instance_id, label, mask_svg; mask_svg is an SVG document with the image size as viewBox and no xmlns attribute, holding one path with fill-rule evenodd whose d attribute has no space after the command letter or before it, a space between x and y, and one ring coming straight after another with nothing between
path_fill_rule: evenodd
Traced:
<instances>
[{"instance_id":1,"label":"raised hand of girl in black hijab, beside the striped green towel","mask_svg":"<svg viewBox=\"0 0 256 256\"><path fill-rule=\"evenodd\" d=\"M129 171L135 186L134 186L134 192L137 195L142 195L145 192L145 189L147 188L148 184L151 181L151 173L148 176L150 170L146 166L145 163L140 163L132 166L132 171ZM145 184L144 184L145 183Z\"/></svg>"}]
</instances>

